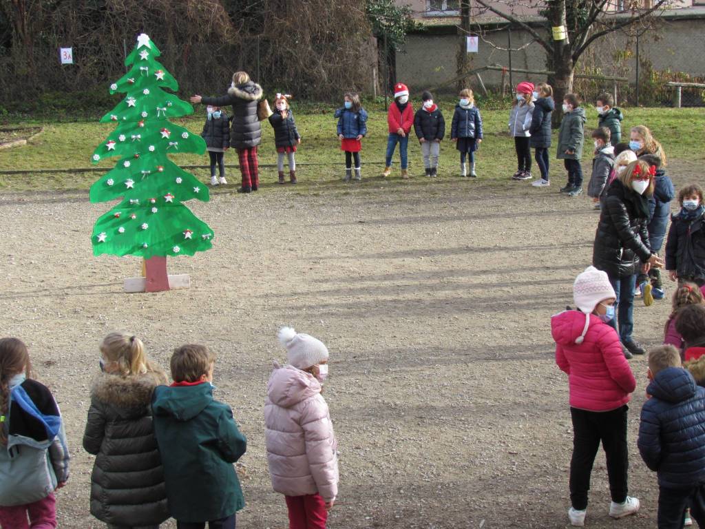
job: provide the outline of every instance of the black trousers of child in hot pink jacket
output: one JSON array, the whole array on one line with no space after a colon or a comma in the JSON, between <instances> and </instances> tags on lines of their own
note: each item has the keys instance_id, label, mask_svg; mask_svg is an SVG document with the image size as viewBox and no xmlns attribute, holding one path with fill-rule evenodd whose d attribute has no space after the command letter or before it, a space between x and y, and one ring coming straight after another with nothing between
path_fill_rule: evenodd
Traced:
<instances>
[{"instance_id":1,"label":"black trousers of child in hot pink jacket","mask_svg":"<svg viewBox=\"0 0 705 529\"><path fill-rule=\"evenodd\" d=\"M570 502L573 509L587 509L590 474L597 450L602 448L607 458L607 476L612 501L627 499L627 410L622 406L612 411L585 411L570 408L573 423L573 454L570 459Z\"/></svg>"}]
</instances>

